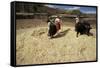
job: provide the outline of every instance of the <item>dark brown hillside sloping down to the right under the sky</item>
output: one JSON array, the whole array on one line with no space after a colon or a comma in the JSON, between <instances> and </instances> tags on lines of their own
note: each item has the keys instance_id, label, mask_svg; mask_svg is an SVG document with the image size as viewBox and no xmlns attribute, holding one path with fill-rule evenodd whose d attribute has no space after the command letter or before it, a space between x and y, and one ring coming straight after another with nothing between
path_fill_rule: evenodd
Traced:
<instances>
[{"instance_id":1,"label":"dark brown hillside sloping down to the right under the sky","mask_svg":"<svg viewBox=\"0 0 100 68\"><path fill-rule=\"evenodd\" d=\"M16 4L17 13L48 13L48 14L58 14L63 13L63 10L56 8L50 8L45 6L45 4L29 4L29 3L17 3Z\"/></svg>"}]
</instances>

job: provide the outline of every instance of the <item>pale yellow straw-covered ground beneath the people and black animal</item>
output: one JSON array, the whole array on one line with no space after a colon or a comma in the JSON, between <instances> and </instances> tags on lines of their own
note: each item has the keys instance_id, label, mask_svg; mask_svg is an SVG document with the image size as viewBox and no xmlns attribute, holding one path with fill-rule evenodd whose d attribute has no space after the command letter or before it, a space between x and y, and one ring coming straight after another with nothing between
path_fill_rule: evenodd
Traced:
<instances>
[{"instance_id":1,"label":"pale yellow straw-covered ground beneath the people and black animal","mask_svg":"<svg viewBox=\"0 0 100 68\"><path fill-rule=\"evenodd\" d=\"M24 20L24 23L17 20L17 65L96 60L96 28L90 31L93 36L77 38L74 26L63 25L59 34L50 39L47 23L38 22L40 24L37 20Z\"/></svg>"}]
</instances>

